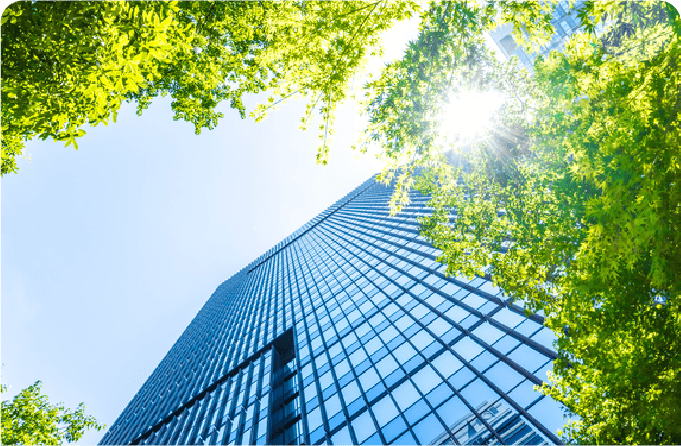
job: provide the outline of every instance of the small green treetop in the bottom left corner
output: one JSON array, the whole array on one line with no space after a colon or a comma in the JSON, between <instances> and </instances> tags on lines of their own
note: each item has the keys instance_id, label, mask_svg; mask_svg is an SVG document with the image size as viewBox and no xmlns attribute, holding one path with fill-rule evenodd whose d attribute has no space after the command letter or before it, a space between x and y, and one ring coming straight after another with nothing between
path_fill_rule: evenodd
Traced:
<instances>
[{"instance_id":1,"label":"small green treetop in the bottom left corner","mask_svg":"<svg viewBox=\"0 0 681 446\"><path fill-rule=\"evenodd\" d=\"M86 429L98 431L106 426L85 415L83 403L72 412L58 404L53 406L40 393L40 381L23 389L12 402L0 401L0 445L56 446L78 441ZM0 393L6 391L0 386Z\"/></svg>"}]
</instances>

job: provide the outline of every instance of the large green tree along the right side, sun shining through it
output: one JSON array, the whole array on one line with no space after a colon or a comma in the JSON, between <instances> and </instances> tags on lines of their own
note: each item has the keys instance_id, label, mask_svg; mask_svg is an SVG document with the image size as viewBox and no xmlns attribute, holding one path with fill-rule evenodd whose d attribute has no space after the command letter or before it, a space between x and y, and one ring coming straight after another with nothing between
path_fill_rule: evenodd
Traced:
<instances>
[{"instance_id":1,"label":"large green tree along the right side, sun shining through it","mask_svg":"<svg viewBox=\"0 0 681 446\"><path fill-rule=\"evenodd\" d=\"M369 85L393 210L412 186L429 195L422 235L447 272L491 278L546 316L560 357L541 390L578 415L566 440L679 444L681 22L657 2L587 2L590 32L528 76L485 51L486 11L444 1L426 16ZM512 100L496 133L452 148L439 120L466 88Z\"/></svg>"}]
</instances>

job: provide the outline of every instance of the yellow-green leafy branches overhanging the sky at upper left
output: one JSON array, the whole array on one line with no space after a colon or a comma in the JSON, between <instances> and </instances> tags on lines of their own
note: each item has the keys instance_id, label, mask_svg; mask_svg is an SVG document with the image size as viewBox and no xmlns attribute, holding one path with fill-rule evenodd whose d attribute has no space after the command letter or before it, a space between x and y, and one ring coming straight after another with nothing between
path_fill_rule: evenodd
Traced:
<instances>
[{"instance_id":1,"label":"yellow-green leafy branches overhanging the sky at upper left","mask_svg":"<svg viewBox=\"0 0 681 446\"><path fill-rule=\"evenodd\" d=\"M212 129L229 101L271 92L262 119L309 98L325 125L378 35L417 9L414 0L20 0L0 19L0 175L34 137L77 148L85 124L115 122L123 101L141 113L170 94L175 120Z\"/></svg>"}]
</instances>

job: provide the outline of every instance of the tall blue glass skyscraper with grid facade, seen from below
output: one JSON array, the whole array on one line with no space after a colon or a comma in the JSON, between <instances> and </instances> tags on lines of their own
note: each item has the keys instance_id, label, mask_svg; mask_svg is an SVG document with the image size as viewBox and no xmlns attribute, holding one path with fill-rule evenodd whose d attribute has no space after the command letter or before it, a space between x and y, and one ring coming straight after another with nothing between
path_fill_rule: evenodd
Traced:
<instances>
[{"instance_id":1,"label":"tall blue glass skyscraper with grid facade, seen from below","mask_svg":"<svg viewBox=\"0 0 681 446\"><path fill-rule=\"evenodd\" d=\"M553 334L373 179L220 285L100 445L555 445Z\"/></svg>"}]
</instances>

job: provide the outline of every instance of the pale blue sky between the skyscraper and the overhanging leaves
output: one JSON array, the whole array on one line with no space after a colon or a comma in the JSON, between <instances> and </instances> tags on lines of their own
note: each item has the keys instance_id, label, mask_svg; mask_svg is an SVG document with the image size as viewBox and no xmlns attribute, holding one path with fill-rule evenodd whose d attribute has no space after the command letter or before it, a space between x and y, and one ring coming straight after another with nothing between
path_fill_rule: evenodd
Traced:
<instances>
[{"instance_id":1,"label":"pale blue sky between the skyscraper and the overhanging leaves","mask_svg":"<svg viewBox=\"0 0 681 446\"><path fill-rule=\"evenodd\" d=\"M386 36L385 60L415 25ZM52 403L85 402L111 426L220 283L380 170L350 150L352 104L328 166L315 164L317 132L298 129L302 103L259 124L220 108L196 136L169 98L141 117L124 105L78 151L28 143L31 160L0 180L5 399L42 380Z\"/></svg>"}]
</instances>

